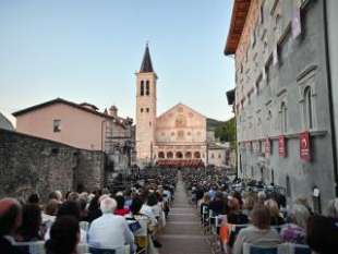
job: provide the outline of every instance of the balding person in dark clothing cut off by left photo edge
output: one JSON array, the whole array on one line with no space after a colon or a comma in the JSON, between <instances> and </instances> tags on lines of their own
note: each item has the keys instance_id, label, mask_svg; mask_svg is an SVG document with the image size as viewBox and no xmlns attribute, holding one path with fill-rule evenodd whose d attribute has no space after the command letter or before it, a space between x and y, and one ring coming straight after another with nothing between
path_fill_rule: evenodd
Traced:
<instances>
[{"instance_id":1,"label":"balding person in dark clothing cut off by left photo edge","mask_svg":"<svg viewBox=\"0 0 338 254\"><path fill-rule=\"evenodd\" d=\"M22 222L22 208L13 198L0 199L0 252L22 254L14 244L14 237Z\"/></svg>"}]
</instances>

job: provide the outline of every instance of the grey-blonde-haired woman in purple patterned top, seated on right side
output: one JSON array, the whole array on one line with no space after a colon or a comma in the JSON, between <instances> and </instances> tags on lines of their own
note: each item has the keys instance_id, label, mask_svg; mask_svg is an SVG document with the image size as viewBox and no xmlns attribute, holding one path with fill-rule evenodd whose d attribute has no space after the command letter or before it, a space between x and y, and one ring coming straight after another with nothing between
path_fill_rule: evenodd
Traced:
<instances>
[{"instance_id":1,"label":"grey-blonde-haired woman in purple patterned top, seated on right side","mask_svg":"<svg viewBox=\"0 0 338 254\"><path fill-rule=\"evenodd\" d=\"M290 219L280 231L280 237L285 242L292 242L298 244L305 243L306 222L310 217L310 211L304 205L293 205Z\"/></svg>"}]
</instances>

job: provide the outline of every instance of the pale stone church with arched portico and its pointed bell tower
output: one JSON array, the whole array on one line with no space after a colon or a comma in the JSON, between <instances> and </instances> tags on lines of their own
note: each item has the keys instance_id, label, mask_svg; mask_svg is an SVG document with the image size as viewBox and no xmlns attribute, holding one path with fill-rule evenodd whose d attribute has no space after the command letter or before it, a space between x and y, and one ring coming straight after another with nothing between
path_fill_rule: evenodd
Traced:
<instances>
[{"instance_id":1,"label":"pale stone church with arched portico and its pointed bell tower","mask_svg":"<svg viewBox=\"0 0 338 254\"><path fill-rule=\"evenodd\" d=\"M207 165L207 119L178 104L157 116L157 74L146 47L136 73L136 157L138 166Z\"/></svg>"}]
</instances>

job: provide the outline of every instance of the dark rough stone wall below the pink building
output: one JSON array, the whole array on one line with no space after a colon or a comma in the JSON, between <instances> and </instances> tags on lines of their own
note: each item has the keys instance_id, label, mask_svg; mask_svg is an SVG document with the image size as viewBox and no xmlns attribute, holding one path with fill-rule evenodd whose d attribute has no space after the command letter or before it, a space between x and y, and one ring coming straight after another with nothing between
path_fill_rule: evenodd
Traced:
<instances>
[{"instance_id":1,"label":"dark rough stone wall below the pink building","mask_svg":"<svg viewBox=\"0 0 338 254\"><path fill-rule=\"evenodd\" d=\"M0 130L0 197L26 198L37 192L87 191L104 185L105 155Z\"/></svg>"}]
</instances>

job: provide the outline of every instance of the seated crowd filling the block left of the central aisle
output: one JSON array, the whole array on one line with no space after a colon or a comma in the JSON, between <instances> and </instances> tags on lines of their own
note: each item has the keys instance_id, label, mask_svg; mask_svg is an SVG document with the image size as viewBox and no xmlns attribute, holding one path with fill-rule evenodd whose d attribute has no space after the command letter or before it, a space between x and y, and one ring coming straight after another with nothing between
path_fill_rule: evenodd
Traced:
<instances>
[{"instance_id":1,"label":"seated crowd filling the block left of the central aisle","mask_svg":"<svg viewBox=\"0 0 338 254\"><path fill-rule=\"evenodd\" d=\"M157 235L166 225L176 182L177 171L168 169L148 173L144 181L116 193L55 191L45 202L36 193L26 201L2 198L0 253L23 254L17 243L41 241L46 254L75 254L80 244L88 250L129 245L131 253L143 247L157 253L161 247ZM146 239L135 233L141 220Z\"/></svg>"}]
</instances>

